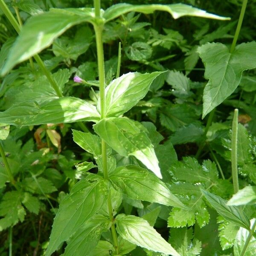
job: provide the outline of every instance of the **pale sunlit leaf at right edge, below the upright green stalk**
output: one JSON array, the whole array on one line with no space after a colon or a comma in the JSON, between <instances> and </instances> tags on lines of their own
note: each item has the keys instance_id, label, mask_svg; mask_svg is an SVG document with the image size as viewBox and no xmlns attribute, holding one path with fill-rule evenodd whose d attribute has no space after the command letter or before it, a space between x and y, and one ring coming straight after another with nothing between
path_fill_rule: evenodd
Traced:
<instances>
[{"instance_id":1,"label":"pale sunlit leaf at right edge, below the upright green stalk","mask_svg":"<svg viewBox=\"0 0 256 256\"><path fill-rule=\"evenodd\" d=\"M227 205L244 205L256 204L256 186L246 186L240 189L233 197L227 202Z\"/></svg>"}]
</instances>

